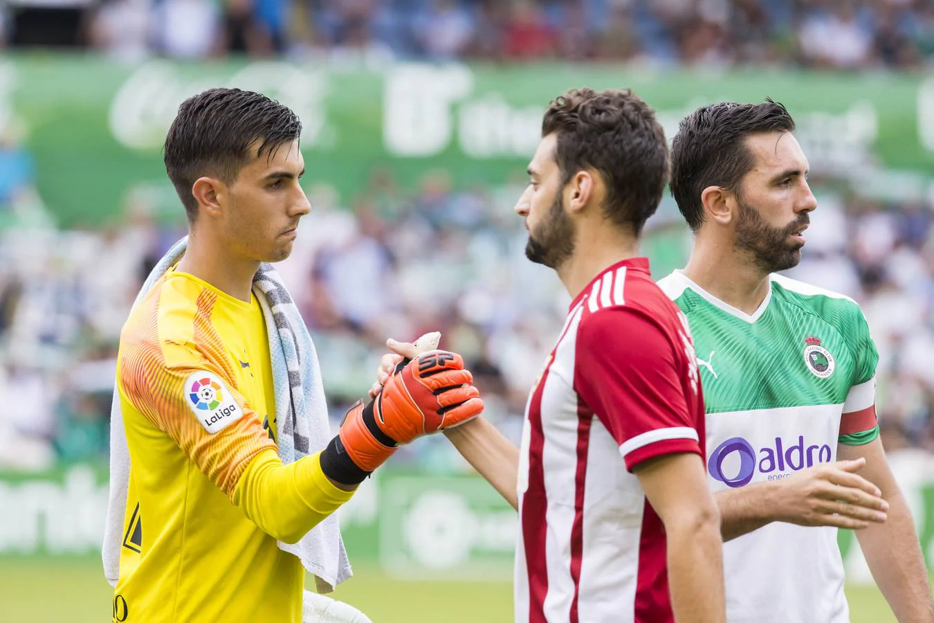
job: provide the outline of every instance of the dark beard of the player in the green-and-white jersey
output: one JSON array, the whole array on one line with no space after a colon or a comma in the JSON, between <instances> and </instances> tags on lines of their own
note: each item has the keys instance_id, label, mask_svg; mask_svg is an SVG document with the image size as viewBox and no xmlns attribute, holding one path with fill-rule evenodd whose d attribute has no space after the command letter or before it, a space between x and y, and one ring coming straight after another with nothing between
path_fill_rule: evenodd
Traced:
<instances>
[{"instance_id":1,"label":"dark beard of the player in the green-and-white jersey","mask_svg":"<svg viewBox=\"0 0 934 623\"><path fill-rule=\"evenodd\" d=\"M788 236L807 225L811 219L807 212L802 212L798 219L785 227L772 227L762 218L755 208L743 203L737 196L740 206L739 219L736 221L736 247L748 251L756 265L766 273L794 268L801 261L799 242L789 242Z\"/></svg>"}]
</instances>

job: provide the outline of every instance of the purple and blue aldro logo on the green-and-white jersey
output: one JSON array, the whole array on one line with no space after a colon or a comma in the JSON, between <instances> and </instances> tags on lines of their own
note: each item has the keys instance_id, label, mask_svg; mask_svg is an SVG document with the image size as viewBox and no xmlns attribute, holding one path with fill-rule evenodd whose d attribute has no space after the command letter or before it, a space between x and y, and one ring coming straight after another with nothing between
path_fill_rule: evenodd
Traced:
<instances>
[{"instance_id":1,"label":"purple and blue aldro logo on the green-and-white jersey","mask_svg":"<svg viewBox=\"0 0 934 623\"><path fill-rule=\"evenodd\" d=\"M723 463L728 457L739 455L740 467L736 474L724 474ZM781 437L775 437L772 446L760 447L756 450L752 444L743 437L731 437L711 453L707 460L707 471L728 487L743 487L753 479L758 469L761 474L770 474L769 480L786 478L790 474L785 472L798 472L814 463L827 463L830 461L830 446L806 445L804 436L798 436L798 443L786 446ZM732 472L732 470L730 470ZM774 474L774 473L779 474Z\"/></svg>"}]
</instances>

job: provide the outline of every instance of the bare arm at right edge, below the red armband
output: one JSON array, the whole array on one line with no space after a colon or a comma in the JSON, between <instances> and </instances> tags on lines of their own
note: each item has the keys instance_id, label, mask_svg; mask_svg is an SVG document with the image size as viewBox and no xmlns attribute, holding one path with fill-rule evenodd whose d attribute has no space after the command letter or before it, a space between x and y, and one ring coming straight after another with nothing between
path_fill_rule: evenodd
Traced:
<instances>
[{"instance_id":1,"label":"bare arm at right edge, below the red armband","mask_svg":"<svg viewBox=\"0 0 934 623\"><path fill-rule=\"evenodd\" d=\"M841 445L842 458L865 458L863 474L882 489L888 501L888 520L857 531L859 545L869 562L872 577L900 623L934 622L934 602L927 583L927 569L921 555L912 516L885 459L878 437L863 446Z\"/></svg>"}]
</instances>

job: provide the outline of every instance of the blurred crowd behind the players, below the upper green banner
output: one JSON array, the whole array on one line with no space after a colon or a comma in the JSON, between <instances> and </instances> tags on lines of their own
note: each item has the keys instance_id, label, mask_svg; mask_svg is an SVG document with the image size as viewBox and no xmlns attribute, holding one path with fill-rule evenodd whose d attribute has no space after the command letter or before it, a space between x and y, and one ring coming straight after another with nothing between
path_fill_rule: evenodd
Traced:
<instances>
[{"instance_id":1,"label":"blurred crowd behind the players, below the upper green banner","mask_svg":"<svg viewBox=\"0 0 934 623\"><path fill-rule=\"evenodd\" d=\"M365 395L388 336L439 330L442 346L474 371L488 418L518 440L527 392L570 303L557 276L525 258L527 234L513 211L521 183L456 190L439 170L404 192L376 169L341 205L326 183L308 182L313 211L278 269L313 333L334 425ZM7 214L18 214L9 206L19 201L30 213L41 208L28 186L28 175L0 184ZM815 192L821 205L790 275L862 304L881 356L884 443L934 451L931 198L884 204L819 179ZM131 191L123 219L103 230L4 221L0 468L106 456L120 326L150 267L185 229L180 207L170 223L151 212L145 194ZM690 237L670 198L649 223L644 250L660 277L686 260ZM440 439L407 446L400 460L460 464Z\"/></svg>"}]
</instances>

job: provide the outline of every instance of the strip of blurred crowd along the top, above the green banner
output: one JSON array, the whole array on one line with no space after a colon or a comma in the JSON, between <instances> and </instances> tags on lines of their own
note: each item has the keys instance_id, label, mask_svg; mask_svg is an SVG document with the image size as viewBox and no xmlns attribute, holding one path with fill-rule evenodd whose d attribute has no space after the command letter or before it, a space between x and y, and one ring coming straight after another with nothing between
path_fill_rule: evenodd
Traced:
<instances>
[{"instance_id":1,"label":"strip of blurred crowd along the top, above the green banner","mask_svg":"<svg viewBox=\"0 0 934 623\"><path fill-rule=\"evenodd\" d=\"M43 7L77 11L59 43L131 61L245 53L862 69L934 58L934 0L7 0L0 41L55 43L36 27L48 15L20 19Z\"/></svg>"}]
</instances>

